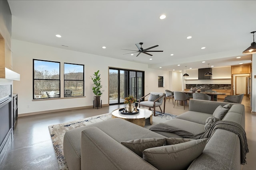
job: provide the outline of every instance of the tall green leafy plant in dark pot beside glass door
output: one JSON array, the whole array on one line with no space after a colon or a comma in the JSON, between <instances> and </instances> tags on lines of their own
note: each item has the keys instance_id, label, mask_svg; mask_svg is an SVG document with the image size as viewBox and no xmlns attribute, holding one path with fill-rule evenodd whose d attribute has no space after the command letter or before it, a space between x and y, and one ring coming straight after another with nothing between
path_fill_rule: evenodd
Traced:
<instances>
[{"instance_id":1,"label":"tall green leafy plant in dark pot beside glass door","mask_svg":"<svg viewBox=\"0 0 256 170\"><path fill-rule=\"evenodd\" d=\"M101 80L100 80L99 72L100 70L98 70L97 72L94 72L93 76L91 76L91 79L94 84L94 86L92 87L92 92L96 95L94 96L94 102L93 102L94 107L100 106L100 96L102 95L102 92L104 92L104 90L100 90L102 88L102 85L100 84Z\"/></svg>"}]
</instances>

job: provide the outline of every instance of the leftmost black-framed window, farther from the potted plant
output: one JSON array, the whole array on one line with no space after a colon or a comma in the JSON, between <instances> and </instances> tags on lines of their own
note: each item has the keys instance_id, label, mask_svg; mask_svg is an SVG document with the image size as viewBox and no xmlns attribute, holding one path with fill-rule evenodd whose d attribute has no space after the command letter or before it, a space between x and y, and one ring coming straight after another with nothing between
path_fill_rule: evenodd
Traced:
<instances>
[{"instance_id":1,"label":"leftmost black-framed window, farther from the potted plant","mask_svg":"<svg viewBox=\"0 0 256 170\"><path fill-rule=\"evenodd\" d=\"M33 59L33 99L60 98L60 62Z\"/></svg>"}]
</instances>

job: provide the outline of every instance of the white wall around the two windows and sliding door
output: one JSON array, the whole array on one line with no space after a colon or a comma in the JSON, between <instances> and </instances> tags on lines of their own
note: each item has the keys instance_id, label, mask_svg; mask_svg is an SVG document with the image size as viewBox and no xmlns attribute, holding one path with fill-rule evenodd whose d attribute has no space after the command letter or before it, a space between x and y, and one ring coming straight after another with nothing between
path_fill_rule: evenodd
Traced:
<instances>
[{"instance_id":1,"label":"white wall around the two windows and sliding door","mask_svg":"<svg viewBox=\"0 0 256 170\"><path fill-rule=\"evenodd\" d=\"M25 41L12 39L14 71L20 74L20 81L14 81L14 93L18 93L18 114L33 113L55 109L92 106L92 80L90 76L100 70L103 88L102 104L108 104L108 67L145 71L145 94L164 92L169 88L169 72L148 68L147 64L128 62L98 55L80 53ZM84 64L84 98L58 98L32 100L33 98L33 59L59 61L63 73L64 63ZM164 76L164 88L158 88L158 76ZM61 76L61 89L64 88ZM29 106L29 108L27 108Z\"/></svg>"}]
</instances>

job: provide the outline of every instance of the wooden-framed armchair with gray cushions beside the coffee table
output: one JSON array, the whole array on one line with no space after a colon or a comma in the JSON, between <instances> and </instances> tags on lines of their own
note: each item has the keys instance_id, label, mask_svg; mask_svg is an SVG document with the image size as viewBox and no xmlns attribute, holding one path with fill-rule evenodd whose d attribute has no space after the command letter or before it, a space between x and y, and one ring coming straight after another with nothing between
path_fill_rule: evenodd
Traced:
<instances>
[{"instance_id":1,"label":"wooden-framed armchair with gray cushions beside the coffee table","mask_svg":"<svg viewBox=\"0 0 256 170\"><path fill-rule=\"evenodd\" d=\"M141 101L141 100L145 99L145 97L148 95L149 95L148 101ZM150 110L151 110L151 108L153 108L154 116L156 116L156 107L160 108L161 114L164 113L164 112L162 112L162 109L160 106L163 104L163 101L164 101L164 111L165 111L165 100L166 100L165 93L150 92L146 96L143 96L142 98L139 99L139 107L145 106L145 107L148 107L148 109L150 109ZM158 115L160 115L160 114L158 114Z\"/></svg>"}]
</instances>

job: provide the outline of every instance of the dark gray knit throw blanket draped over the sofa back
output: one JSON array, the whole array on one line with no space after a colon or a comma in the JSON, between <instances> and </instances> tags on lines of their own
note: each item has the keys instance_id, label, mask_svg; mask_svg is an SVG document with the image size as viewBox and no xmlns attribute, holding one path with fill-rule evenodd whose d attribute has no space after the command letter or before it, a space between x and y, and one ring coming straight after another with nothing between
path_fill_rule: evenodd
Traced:
<instances>
[{"instance_id":1,"label":"dark gray knit throw blanket draped over the sofa back","mask_svg":"<svg viewBox=\"0 0 256 170\"><path fill-rule=\"evenodd\" d=\"M241 151L241 164L246 164L246 153L249 152L248 145L247 145L247 138L244 128L239 125L238 123L232 121L217 121L204 133L194 135L190 132L184 131L182 129L178 129L176 127L171 127L164 123L160 123L158 125L150 127L149 130L151 131L163 131L163 132L170 132L175 133L183 138L190 138L190 139L203 139L203 138L210 138L216 129L224 129L227 131L231 131L238 135L240 139L240 151Z\"/></svg>"}]
</instances>

